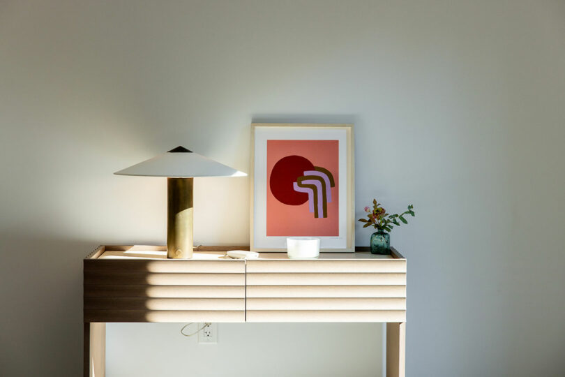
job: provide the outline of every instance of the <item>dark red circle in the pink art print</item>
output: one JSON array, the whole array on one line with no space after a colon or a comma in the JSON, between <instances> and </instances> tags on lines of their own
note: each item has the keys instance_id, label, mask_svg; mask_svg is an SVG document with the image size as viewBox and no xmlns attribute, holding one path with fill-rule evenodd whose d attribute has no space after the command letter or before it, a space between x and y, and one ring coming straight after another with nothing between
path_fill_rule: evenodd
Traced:
<instances>
[{"instance_id":1,"label":"dark red circle in the pink art print","mask_svg":"<svg viewBox=\"0 0 565 377\"><path fill-rule=\"evenodd\" d=\"M307 193L294 191L294 182L302 177L306 170L314 170L314 165L301 156L280 158L273 166L269 186L271 193L285 205L301 205L308 201Z\"/></svg>"}]
</instances>

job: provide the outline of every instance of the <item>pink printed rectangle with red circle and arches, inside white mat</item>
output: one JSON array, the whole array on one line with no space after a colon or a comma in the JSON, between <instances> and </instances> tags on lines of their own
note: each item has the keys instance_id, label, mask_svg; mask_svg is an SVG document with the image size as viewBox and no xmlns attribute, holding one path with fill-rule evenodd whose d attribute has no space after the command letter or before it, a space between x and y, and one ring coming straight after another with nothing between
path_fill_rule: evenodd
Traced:
<instances>
[{"instance_id":1,"label":"pink printed rectangle with red circle and arches, inside white mat","mask_svg":"<svg viewBox=\"0 0 565 377\"><path fill-rule=\"evenodd\" d=\"M267 140L266 235L339 235L338 140Z\"/></svg>"}]
</instances>

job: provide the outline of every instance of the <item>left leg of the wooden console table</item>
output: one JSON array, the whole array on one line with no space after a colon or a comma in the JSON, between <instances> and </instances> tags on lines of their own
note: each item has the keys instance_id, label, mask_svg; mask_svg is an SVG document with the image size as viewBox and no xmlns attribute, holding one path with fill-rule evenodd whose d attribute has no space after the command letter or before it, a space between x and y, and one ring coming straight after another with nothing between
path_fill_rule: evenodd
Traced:
<instances>
[{"instance_id":1,"label":"left leg of the wooden console table","mask_svg":"<svg viewBox=\"0 0 565 377\"><path fill-rule=\"evenodd\" d=\"M104 377L106 369L106 324L84 323L84 377Z\"/></svg>"}]
</instances>

